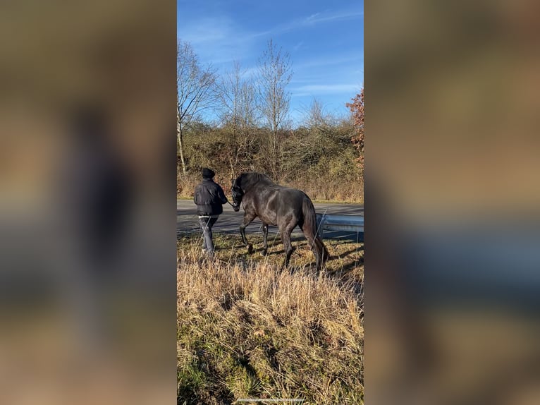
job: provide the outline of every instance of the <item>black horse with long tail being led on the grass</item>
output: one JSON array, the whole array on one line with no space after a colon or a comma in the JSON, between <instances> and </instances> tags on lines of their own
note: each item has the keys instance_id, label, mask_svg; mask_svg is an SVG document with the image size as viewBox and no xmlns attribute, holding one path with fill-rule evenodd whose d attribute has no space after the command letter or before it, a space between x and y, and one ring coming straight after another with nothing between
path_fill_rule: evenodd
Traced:
<instances>
[{"instance_id":1,"label":"black horse with long tail being led on the grass","mask_svg":"<svg viewBox=\"0 0 540 405\"><path fill-rule=\"evenodd\" d=\"M235 211L240 210L240 203L244 207L244 219L240 225L240 234L244 245L247 246L248 253L252 253L253 246L247 242L245 227L255 217L259 217L262 221L264 241L262 254L266 255L268 251L268 226L277 225L285 248L283 267L287 267L290 255L294 250L290 243L290 234L298 225L312 247L317 270L321 270L330 255L321 238L317 235L317 217L312 200L303 191L278 186L268 176L252 172L238 176L233 183L232 194Z\"/></svg>"}]
</instances>

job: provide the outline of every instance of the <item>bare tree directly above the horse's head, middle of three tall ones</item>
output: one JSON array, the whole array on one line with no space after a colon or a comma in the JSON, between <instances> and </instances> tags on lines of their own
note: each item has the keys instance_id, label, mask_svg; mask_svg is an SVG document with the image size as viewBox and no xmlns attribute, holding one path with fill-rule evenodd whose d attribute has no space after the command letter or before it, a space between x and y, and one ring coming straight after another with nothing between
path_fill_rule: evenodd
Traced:
<instances>
[{"instance_id":1,"label":"bare tree directly above the horse's head, middle of three tall ones","mask_svg":"<svg viewBox=\"0 0 540 405\"><path fill-rule=\"evenodd\" d=\"M234 62L233 70L223 76L221 82L221 121L230 131L231 151L228 164L231 176L247 169L254 159L257 137L254 135L259 123L257 90L247 71Z\"/></svg>"}]
</instances>

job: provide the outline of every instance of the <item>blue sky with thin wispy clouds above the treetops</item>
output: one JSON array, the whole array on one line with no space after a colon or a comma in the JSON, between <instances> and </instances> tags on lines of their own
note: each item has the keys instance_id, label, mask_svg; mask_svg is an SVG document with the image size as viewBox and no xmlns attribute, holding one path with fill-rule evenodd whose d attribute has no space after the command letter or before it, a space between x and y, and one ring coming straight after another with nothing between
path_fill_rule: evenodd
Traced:
<instances>
[{"instance_id":1,"label":"blue sky with thin wispy clouds above the treetops","mask_svg":"<svg viewBox=\"0 0 540 405\"><path fill-rule=\"evenodd\" d=\"M220 73L233 61L254 71L272 39L290 54L290 114L297 122L316 97L324 111L345 103L364 83L364 1L177 0L177 35Z\"/></svg>"}]
</instances>

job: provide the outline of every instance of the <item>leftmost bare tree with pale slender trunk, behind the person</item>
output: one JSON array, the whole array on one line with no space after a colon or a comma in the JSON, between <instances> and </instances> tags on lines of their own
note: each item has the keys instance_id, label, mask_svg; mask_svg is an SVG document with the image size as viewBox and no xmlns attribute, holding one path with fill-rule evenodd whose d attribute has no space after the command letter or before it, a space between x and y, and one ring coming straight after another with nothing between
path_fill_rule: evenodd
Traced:
<instances>
[{"instance_id":1,"label":"leftmost bare tree with pale slender trunk, behind the person","mask_svg":"<svg viewBox=\"0 0 540 405\"><path fill-rule=\"evenodd\" d=\"M180 162L185 174L188 170L184 156L185 129L204 109L213 107L218 97L216 70L211 66L202 66L197 54L189 42L178 40L176 49L176 135Z\"/></svg>"}]
</instances>

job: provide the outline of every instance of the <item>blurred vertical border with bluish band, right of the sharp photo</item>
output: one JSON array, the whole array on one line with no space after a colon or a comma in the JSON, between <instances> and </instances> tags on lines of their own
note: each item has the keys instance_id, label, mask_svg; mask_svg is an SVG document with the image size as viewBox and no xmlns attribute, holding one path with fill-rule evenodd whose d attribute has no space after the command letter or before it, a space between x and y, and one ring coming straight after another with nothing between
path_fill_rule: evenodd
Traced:
<instances>
[{"instance_id":1,"label":"blurred vertical border with bluish band, right of the sharp photo","mask_svg":"<svg viewBox=\"0 0 540 405\"><path fill-rule=\"evenodd\" d=\"M539 11L365 5L367 404L540 403Z\"/></svg>"}]
</instances>

